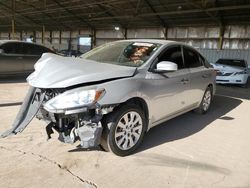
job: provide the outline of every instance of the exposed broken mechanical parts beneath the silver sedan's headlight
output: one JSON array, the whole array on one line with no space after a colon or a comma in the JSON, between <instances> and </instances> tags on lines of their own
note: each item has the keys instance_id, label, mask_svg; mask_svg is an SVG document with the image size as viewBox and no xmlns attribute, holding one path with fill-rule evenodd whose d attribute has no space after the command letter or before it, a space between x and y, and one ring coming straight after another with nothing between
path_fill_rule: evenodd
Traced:
<instances>
[{"instance_id":1,"label":"exposed broken mechanical parts beneath the silver sedan's headlight","mask_svg":"<svg viewBox=\"0 0 250 188\"><path fill-rule=\"evenodd\" d=\"M40 108L37 116L50 122L46 127L48 139L51 138L54 129L59 133L58 139L64 143L72 144L76 140L80 140L83 148L95 147L100 144L102 110L98 104L76 114L53 114Z\"/></svg>"}]
</instances>

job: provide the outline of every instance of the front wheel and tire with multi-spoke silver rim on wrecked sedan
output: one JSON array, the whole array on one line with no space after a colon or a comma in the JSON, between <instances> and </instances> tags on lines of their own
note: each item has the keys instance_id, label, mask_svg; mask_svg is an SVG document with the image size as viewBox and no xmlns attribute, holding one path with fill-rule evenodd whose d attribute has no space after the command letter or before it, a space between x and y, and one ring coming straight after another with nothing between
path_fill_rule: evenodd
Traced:
<instances>
[{"instance_id":1,"label":"front wheel and tire with multi-spoke silver rim on wrecked sedan","mask_svg":"<svg viewBox=\"0 0 250 188\"><path fill-rule=\"evenodd\" d=\"M103 119L101 148L126 156L142 143L147 121L144 112L134 104L125 104Z\"/></svg>"}]
</instances>

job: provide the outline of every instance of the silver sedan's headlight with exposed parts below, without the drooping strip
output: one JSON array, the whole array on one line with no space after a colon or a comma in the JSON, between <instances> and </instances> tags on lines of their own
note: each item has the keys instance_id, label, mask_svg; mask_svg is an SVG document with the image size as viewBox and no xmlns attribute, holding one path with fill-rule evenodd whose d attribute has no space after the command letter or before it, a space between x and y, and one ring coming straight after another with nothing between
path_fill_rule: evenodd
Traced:
<instances>
[{"instance_id":1,"label":"silver sedan's headlight with exposed parts below, without the drooping strip","mask_svg":"<svg viewBox=\"0 0 250 188\"><path fill-rule=\"evenodd\" d=\"M83 148L99 145L103 113L97 101L105 94L104 89L77 88L63 93L60 90L44 92L45 99L37 118L49 122L46 127L48 138L55 129L59 133L59 140L65 143L79 139Z\"/></svg>"}]
</instances>

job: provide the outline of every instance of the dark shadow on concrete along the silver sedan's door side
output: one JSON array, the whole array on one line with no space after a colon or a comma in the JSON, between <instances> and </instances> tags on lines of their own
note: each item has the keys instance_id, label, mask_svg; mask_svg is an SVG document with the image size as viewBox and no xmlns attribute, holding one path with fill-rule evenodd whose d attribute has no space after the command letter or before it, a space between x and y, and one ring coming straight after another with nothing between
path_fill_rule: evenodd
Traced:
<instances>
[{"instance_id":1,"label":"dark shadow on concrete along the silver sedan's door side","mask_svg":"<svg viewBox=\"0 0 250 188\"><path fill-rule=\"evenodd\" d=\"M196 134L219 118L231 121L234 118L225 116L225 114L241 103L242 101L239 99L216 95L207 114L199 115L194 112L188 112L152 128L145 135L143 144L137 152Z\"/></svg>"}]
</instances>

